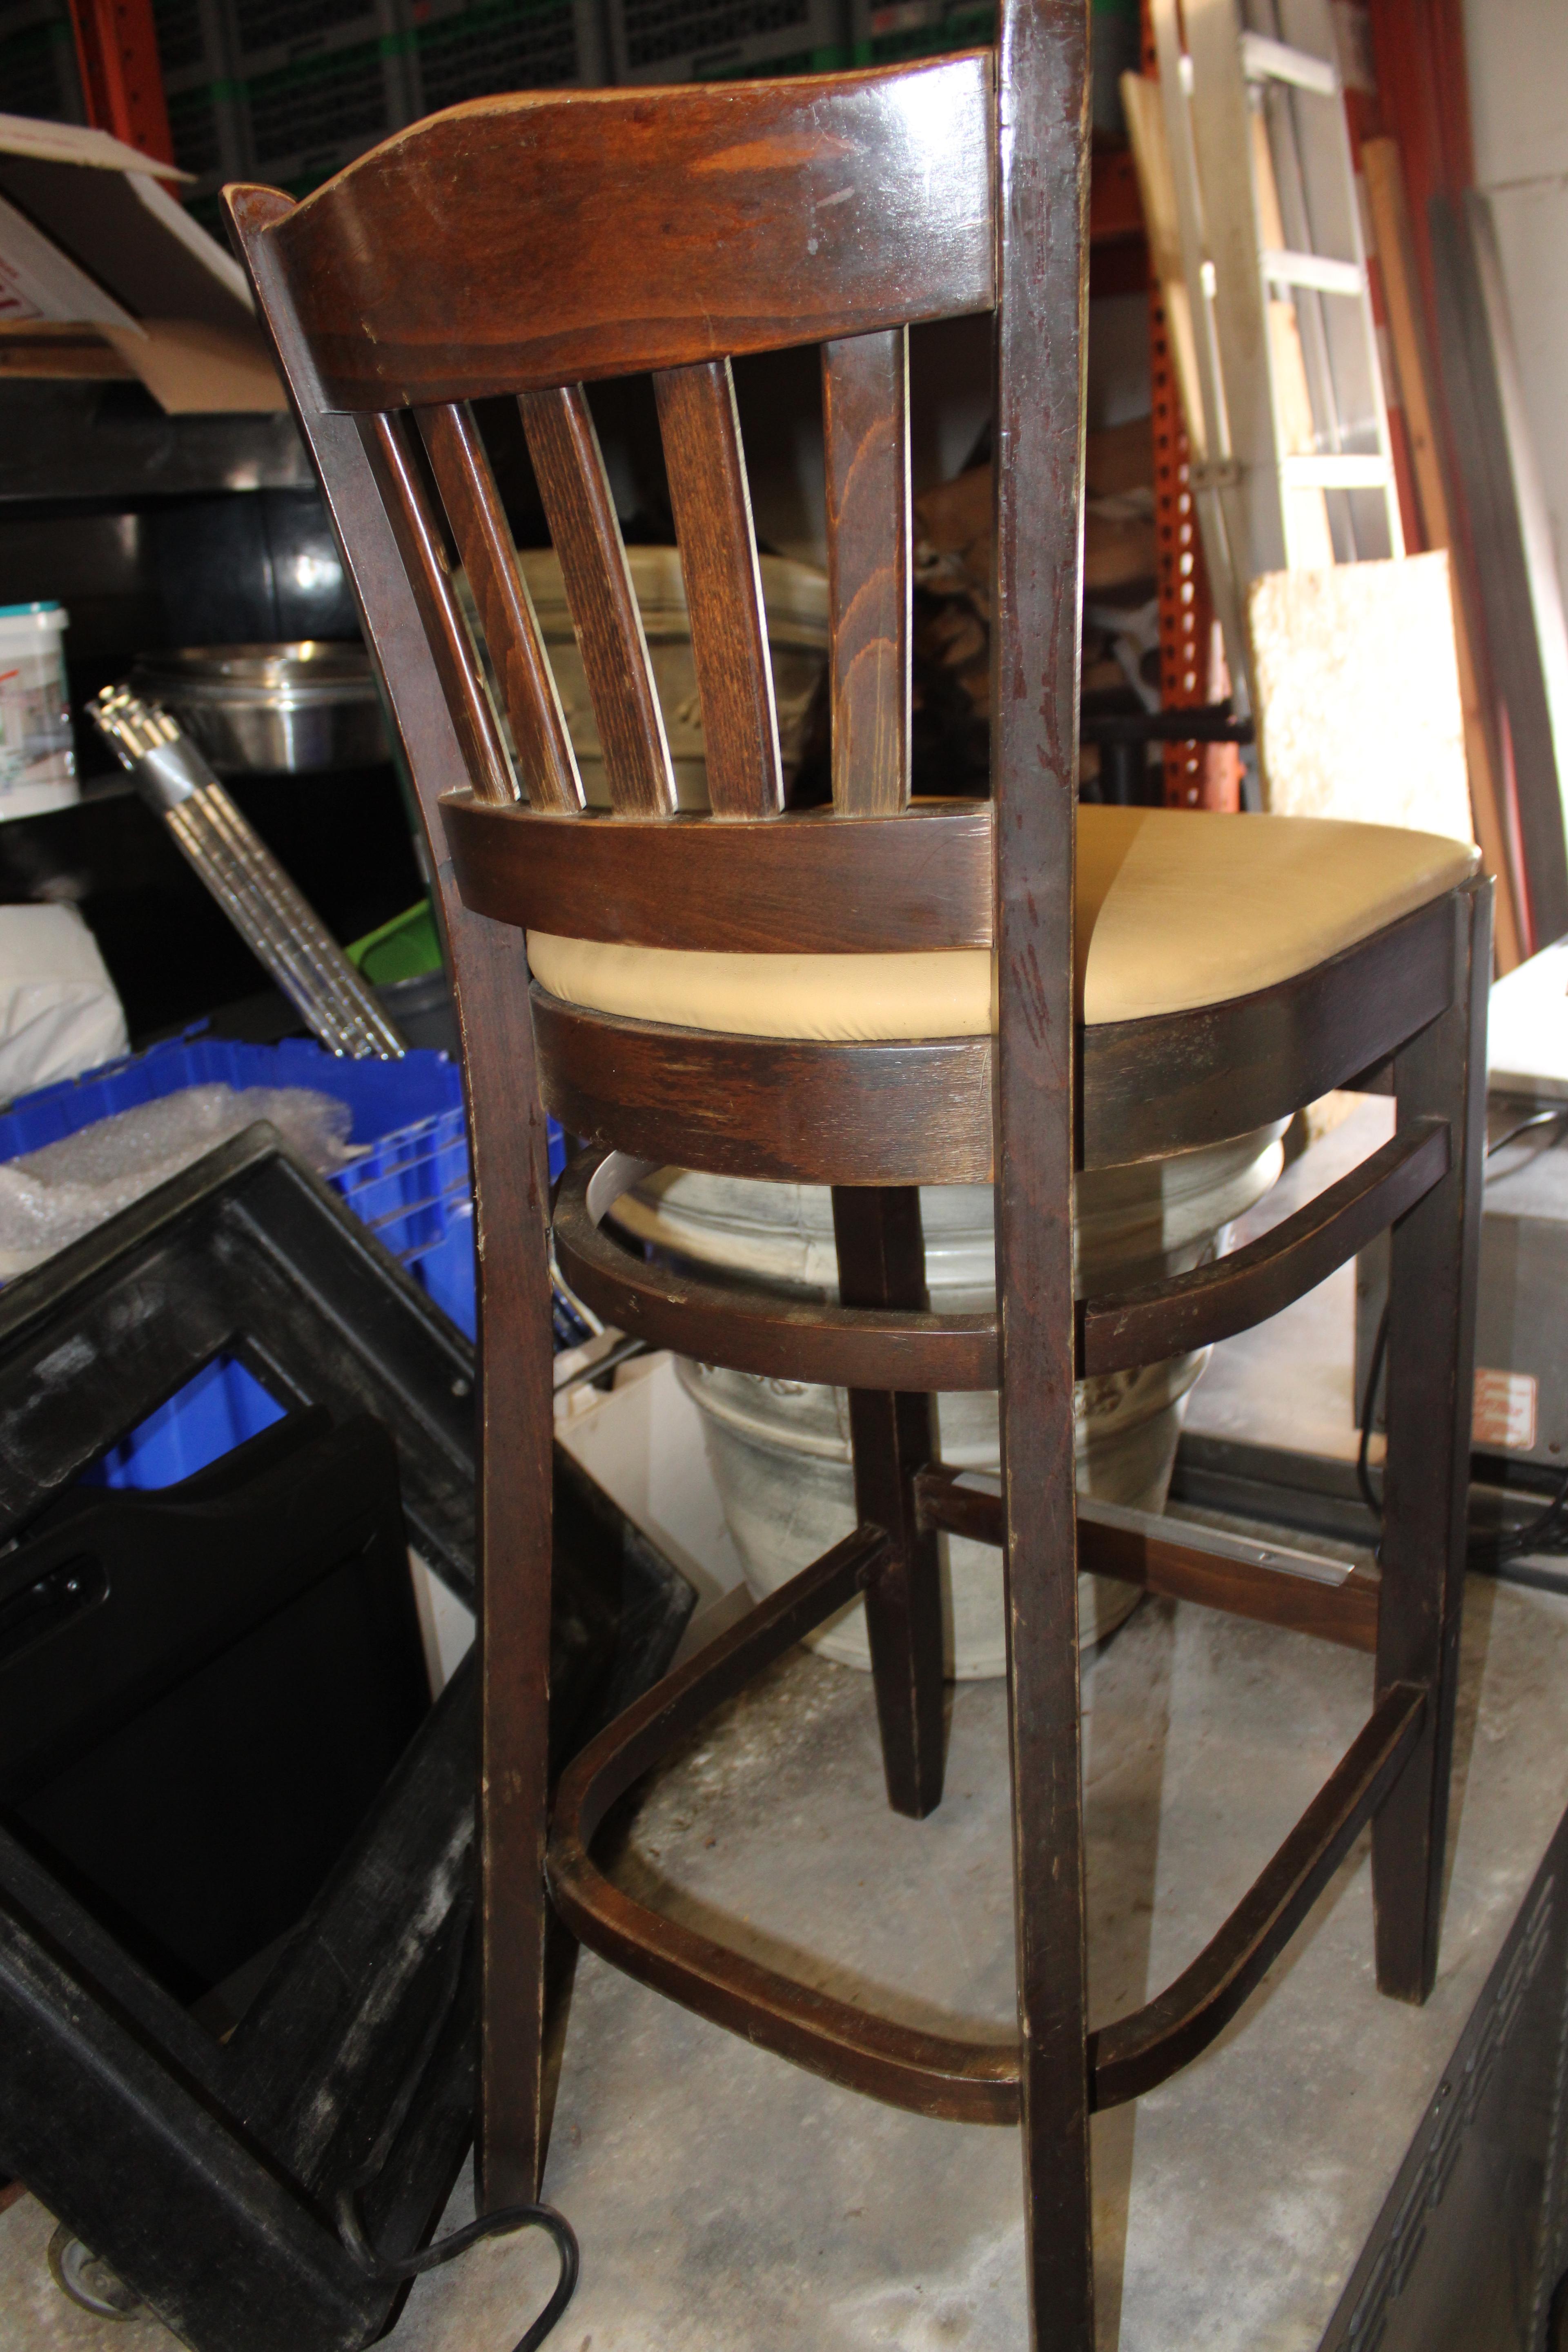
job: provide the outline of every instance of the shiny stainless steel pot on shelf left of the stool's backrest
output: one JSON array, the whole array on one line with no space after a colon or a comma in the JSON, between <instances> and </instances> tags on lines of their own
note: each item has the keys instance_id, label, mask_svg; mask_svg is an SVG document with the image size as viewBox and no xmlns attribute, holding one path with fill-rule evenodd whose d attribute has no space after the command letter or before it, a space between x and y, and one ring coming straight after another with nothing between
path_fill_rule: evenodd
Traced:
<instances>
[{"instance_id":1,"label":"shiny stainless steel pot on shelf left of the stool's backrest","mask_svg":"<svg viewBox=\"0 0 1568 2352\"><path fill-rule=\"evenodd\" d=\"M132 689L174 713L221 776L313 774L388 760L362 644L195 644L143 654Z\"/></svg>"}]
</instances>

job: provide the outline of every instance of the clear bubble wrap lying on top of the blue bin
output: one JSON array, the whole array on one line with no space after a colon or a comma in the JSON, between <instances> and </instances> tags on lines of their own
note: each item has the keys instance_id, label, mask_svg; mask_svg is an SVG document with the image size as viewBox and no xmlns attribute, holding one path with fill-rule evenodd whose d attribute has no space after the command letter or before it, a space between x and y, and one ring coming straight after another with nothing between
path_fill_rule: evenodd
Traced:
<instances>
[{"instance_id":1,"label":"clear bubble wrap lying on top of the blue bin","mask_svg":"<svg viewBox=\"0 0 1568 2352\"><path fill-rule=\"evenodd\" d=\"M360 1157L348 1143L348 1103L310 1087L212 1084L165 1094L0 1164L0 1279L78 1242L256 1120L270 1120L317 1176Z\"/></svg>"}]
</instances>

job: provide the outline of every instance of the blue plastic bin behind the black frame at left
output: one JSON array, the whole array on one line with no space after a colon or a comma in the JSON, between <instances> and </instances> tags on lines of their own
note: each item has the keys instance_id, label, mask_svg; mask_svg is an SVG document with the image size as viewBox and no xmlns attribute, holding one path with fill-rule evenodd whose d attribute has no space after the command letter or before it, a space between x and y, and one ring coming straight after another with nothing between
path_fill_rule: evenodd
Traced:
<instances>
[{"instance_id":1,"label":"blue plastic bin behind the black frame at left","mask_svg":"<svg viewBox=\"0 0 1568 2352\"><path fill-rule=\"evenodd\" d=\"M409 1268L428 1296L475 1336L473 1183L463 1129L463 1080L444 1054L402 1061L339 1061L299 1037L230 1044L188 1035L106 1063L85 1077L26 1094L0 1112L0 1160L42 1150L61 1136L134 1110L183 1087L313 1087L353 1112L350 1143L362 1160L327 1183ZM567 1143L550 1122L550 1176ZM207 1364L92 1470L92 1484L169 1486L219 1461L282 1416L282 1406L235 1362Z\"/></svg>"}]
</instances>

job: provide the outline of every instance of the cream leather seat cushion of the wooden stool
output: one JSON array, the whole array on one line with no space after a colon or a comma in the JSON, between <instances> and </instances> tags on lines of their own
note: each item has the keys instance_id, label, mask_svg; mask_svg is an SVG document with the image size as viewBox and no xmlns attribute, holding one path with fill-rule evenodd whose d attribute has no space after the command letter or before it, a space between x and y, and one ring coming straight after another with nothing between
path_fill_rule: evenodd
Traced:
<instances>
[{"instance_id":1,"label":"cream leather seat cushion of the wooden stool","mask_svg":"<svg viewBox=\"0 0 1568 2352\"><path fill-rule=\"evenodd\" d=\"M1079 809L1084 1021L1222 1004L1309 971L1476 870L1467 842L1328 816ZM980 1037L987 948L715 955L529 931L534 978L592 1011L736 1037Z\"/></svg>"}]
</instances>

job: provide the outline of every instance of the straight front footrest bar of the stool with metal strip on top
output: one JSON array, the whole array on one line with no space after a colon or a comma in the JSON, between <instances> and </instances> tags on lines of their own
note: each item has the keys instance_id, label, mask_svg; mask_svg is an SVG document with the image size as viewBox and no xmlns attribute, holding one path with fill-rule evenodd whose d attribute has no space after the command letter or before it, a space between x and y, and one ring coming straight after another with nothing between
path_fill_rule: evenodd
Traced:
<instances>
[{"instance_id":1,"label":"straight front footrest bar of the stool with metal strip on top","mask_svg":"<svg viewBox=\"0 0 1568 2352\"><path fill-rule=\"evenodd\" d=\"M971 1543L1001 1543L1001 1496L959 1486L957 1472L933 1463L914 1482L922 1517L950 1536ZM1180 1541L1182 1522L1171 1522L1168 1536L1145 1536L1133 1529L1105 1526L1079 1517L1079 1571L1114 1576L1124 1585L1143 1585L1173 1602L1197 1602L1229 1616L1281 1625L1286 1632L1309 1632L1342 1649L1378 1646L1378 1578L1352 1569L1340 1585L1314 1576L1291 1576L1284 1569L1248 1566L1244 1559L1218 1559Z\"/></svg>"}]
</instances>

